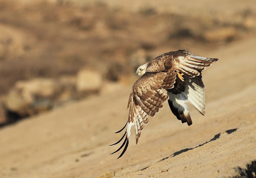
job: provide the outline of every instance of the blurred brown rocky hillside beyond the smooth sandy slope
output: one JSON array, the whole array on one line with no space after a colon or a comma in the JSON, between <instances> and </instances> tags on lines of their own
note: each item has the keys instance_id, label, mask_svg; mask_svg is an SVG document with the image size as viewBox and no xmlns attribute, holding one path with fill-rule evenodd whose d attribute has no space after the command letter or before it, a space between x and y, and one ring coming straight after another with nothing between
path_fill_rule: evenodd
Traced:
<instances>
[{"instance_id":1,"label":"blurred brown rocky hillside beyond the smooth sandy slope","mask_svg":"<svg viewBox=\"0 0 256 178\"><path fill-rule=\"evenodd\" d=\"M130 84L141 64L205 57L256 32L255 0L0 0L0 125Z\"/></svg>"}]
</instances>

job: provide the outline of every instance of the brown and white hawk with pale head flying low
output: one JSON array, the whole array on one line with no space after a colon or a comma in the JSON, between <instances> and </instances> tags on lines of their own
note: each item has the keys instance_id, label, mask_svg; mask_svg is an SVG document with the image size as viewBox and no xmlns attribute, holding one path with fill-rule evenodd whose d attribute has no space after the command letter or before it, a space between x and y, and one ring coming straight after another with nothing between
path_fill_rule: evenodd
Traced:
<instances>
[{"instance_id":1,"label":"brown and white hawk with pale head flying low","mask_svg":"<svg viewBox=\"0 0 256 178\"><path fill-rule=\"evenodd\" d=\"M135 74L141 77L132 86L127 106L128 121L116 133L125 127L126 130L123 137L112 144L118 144L124 139L115 151L124 147L118 158L123 156L128 147L132 126L135 127L137 144L144 124L148 124L148 116L154 117L167 101L172 113L182 123L192 124L187 102L205 115L205 87L201 71L217 61L218 58L199 57L186 50L178 50L164 53L138 67ZM167 90L167 94L162 89Z\"/></svg>"}]
</instances>

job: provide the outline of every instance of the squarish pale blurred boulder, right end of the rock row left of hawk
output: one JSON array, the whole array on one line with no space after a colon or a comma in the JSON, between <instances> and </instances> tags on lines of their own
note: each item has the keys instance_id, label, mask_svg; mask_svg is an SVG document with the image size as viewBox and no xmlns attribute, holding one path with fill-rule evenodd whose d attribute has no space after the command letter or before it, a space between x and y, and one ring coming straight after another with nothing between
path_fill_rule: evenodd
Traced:
<instances>
[{"instance_id":1,"label":"squarish pale blurred boulder, right end of the rock row left of hawk","mask_svg":"<svg viewBox=\"0 0 256 178\"><path fill-rule=\"evenodd\" d=\"M83 69L77 74L76 89L80 94L98 93L103 85L100 73Z\"/></svg>"}]
</instances>

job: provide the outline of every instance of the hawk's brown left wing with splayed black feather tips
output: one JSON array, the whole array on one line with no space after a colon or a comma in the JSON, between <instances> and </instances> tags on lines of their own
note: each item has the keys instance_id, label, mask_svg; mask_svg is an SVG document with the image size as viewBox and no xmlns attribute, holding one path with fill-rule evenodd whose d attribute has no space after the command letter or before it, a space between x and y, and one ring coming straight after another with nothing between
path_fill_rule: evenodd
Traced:
<instances>
[{"instance_id":1,"label":"hawk's brown left wing with splayed black feather tips","mask_svg":"<svg viewBox=\"0 0 256 178\"><path fill-rule=\"evenodd\" d=\"M127 106L127 109L129 108L128 121L126 125L117 132L121 132L126 127L123 137L115 143L118 144L124 139L121 147L115 151L117 152L125 146L118 158L124 154L128 147L132 126L135 127L137 144L144 124L146 125L148 123L148 116L154 117L155 114L159 112L159 109L163 108L162 103L169 99L168 95L162 91L162 88L173 88L176 79L174 70L173 68L167 73L146 72L133 84Z\"/></svg>"}]
</instances>

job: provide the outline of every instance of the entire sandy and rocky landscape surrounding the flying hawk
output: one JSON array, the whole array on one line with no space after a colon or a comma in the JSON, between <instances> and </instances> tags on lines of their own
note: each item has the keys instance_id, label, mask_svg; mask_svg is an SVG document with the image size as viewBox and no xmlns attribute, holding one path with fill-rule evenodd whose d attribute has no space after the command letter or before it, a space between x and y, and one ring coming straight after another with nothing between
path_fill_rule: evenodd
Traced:
<instances>
[{"instance_id":1,"label":"entire sandy and rocky landscape surrounding the flying hawk","mask_svg":"<svg viewBox=\"0 0 256 178\"><path fill-rule=\"evenodd\" d=\"M255 46L255 0L0 0L0 177L231 177L256 160ZM116 160L135 70L183 49L220 58L206 115L165 103Z\"/></svg>"}]
</instances>

